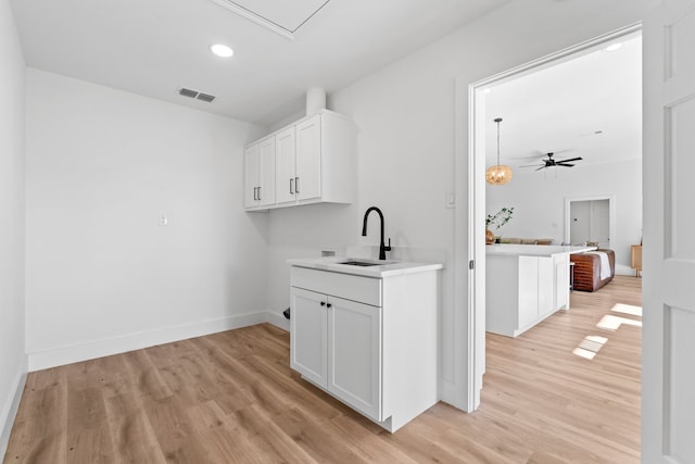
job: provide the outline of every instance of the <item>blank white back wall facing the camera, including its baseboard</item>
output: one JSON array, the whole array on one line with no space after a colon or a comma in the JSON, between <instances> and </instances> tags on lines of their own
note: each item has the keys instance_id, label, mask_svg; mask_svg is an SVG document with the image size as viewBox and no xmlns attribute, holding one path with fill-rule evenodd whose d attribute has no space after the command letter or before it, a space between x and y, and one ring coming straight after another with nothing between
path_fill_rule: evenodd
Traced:
<instances>
[{"instance_id":1,"label":"blank white back wall facing the camera, including its baseboard","mask_svg":"<svg viewBox=\"0 0 695 464\"><path fill-rule=\"evenodd\" d=\"M29 369L264 321L267 215L242 204L261 128L33 68L26 81Z\"/></svg>"}]
</instances>

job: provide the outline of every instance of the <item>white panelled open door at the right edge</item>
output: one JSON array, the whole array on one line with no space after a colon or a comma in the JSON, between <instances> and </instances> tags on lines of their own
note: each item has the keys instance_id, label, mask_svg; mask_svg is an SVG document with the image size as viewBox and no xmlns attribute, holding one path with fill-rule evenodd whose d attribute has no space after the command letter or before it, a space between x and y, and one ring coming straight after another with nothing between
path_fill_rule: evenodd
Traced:
<instances>
[{"instance_id":1,"label":"white panelled open door at the right edge","mask_svg":"<svg viewBox=\"0 0 695 464\"><path fill-rule=\"evenodd\" d=\"M644 22L642 462L695 463L695 1Z\"/></svg>"}]
</instances>

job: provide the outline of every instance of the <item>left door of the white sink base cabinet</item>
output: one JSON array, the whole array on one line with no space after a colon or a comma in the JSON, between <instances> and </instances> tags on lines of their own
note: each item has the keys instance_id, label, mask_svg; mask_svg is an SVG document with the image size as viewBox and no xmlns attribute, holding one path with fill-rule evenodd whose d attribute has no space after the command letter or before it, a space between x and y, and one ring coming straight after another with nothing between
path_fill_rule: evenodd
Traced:
<instances>
[{"instance_id":1,"label":"left door of the white sink base cabinet","mask_svg":"<svg viewBox=\"0 0 695 464\"><path fill-rule=\"evenodd\" d=\"M292 287L290 308L290 365L307 380L327 388L326 296Z\"/></svg>"}]
</instances>

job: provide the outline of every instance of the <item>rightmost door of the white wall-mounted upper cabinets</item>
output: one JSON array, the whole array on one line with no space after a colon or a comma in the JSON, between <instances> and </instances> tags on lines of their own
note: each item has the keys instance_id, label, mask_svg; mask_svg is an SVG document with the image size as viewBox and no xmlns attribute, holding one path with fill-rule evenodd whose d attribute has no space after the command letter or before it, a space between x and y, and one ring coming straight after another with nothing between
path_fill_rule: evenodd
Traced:
<instances>
[{"instance_id":1,"label":"rightmost door of the white wall-mounted upper cabinets","mask_svg":"<svg viewBox=\"0 0 695 464\"><path fill-rule=\"evenodd\" d=\"M296 125L298 200L321 196L321 116L317 114Z\"/></svg>"}]
</instances>

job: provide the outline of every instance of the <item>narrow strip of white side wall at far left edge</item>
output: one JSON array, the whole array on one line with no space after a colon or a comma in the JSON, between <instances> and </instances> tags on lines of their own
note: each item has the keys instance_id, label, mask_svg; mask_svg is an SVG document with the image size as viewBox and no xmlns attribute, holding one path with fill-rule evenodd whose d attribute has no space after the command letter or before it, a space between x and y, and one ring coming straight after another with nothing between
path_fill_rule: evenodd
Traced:
<instances>
[{"instance_id":1,"label":"narrow strip of white side wall at far left edge","mask_svg":"<svg viewBox=\"0 0 695 464\"><path fill-rule=\"evenodd\" d=\"M22 393L24 352L24 58L0 0L0 456Z\"/></svg>"}]
</instances>

